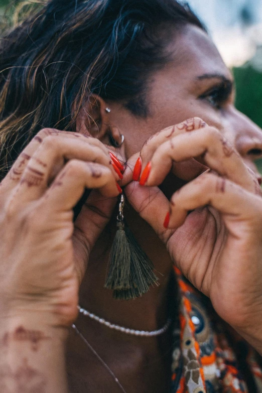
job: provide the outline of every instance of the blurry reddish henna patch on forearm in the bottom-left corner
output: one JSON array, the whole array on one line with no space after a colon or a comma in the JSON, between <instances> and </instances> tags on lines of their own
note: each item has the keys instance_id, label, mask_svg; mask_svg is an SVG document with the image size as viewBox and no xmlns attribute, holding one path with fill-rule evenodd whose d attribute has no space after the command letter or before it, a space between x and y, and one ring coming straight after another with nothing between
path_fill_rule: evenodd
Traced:
<instances>
[{"instance_id":1,"label":"blurry reddish henna patch on forearm in the bottom-left corner","mask_svg":"<svg viewBox=\"0 0 262 393\"><path fill-rule=\"evenodd\" d=\"M3 393L46 393L46 385L44 374L31 367L27 358L16 370L8 364L0 369L0 389Z\"/></svg>"}]
</instances>

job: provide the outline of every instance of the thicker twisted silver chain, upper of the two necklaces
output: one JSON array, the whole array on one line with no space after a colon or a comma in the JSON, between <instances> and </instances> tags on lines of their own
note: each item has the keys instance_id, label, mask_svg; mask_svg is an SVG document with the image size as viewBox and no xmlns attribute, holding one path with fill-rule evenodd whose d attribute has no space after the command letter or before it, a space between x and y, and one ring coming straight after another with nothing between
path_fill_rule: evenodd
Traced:
<instances>
[{"instance_id":1,"label":"thicker twisted silver chain, upper of the two necklaces","mask_svg":"<svg viewBox=\"0 0 262 393\"><path fill-rule=\"evenodd\" d=\"M113 323L110 323L110 322L106 321L105 319L100 318L97 315L90 313L89 311L85 310L84 308L82 308L80 306L78 306L78 310L81 314L86 315L87 317L99 322L100 324L107 326L109 329L114 329L114 330L118 330L119 332L122 332L122 333L131 334L134 336L141 336L141 337L160 336L161 334L165 333L168 330L168 328L170 327L171 322L172 322L172 319L169 318L167 320L167 323L161 329L158 329L158 330L152 330L152 331L135 330L135 329L128 329L123 326L119 326L119 325L115 325Z\"/></svg>"}]
</instances>

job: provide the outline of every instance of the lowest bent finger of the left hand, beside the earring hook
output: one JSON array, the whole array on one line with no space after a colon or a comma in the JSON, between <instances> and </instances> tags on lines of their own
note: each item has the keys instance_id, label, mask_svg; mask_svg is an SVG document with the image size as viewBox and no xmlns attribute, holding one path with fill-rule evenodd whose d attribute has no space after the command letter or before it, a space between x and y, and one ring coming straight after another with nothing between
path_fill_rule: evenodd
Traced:
<instances>
[{"instance_id":1,"label":"lowest bent finger of the left hand, beside the earring hook","mask_svg":"<svg viewBox=\"0 0 262 393\"><path fill-rule=\"evenodd\" d=\"M99 189L101 195L119 195L119 186L109 168L91 162L70 160L42 197L48 211L69 211L81 198L84 189Z\"/></svg>"}]
</instances>

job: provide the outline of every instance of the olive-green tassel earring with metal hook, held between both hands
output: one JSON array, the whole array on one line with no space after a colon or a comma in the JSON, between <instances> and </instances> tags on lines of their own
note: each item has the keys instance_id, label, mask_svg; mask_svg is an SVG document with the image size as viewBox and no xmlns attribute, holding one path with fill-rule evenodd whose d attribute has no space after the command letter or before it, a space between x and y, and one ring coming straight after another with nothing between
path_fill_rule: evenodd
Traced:
<instances>
[{"instance_id":1,"label":"olive-green tassel earring with metal hook, held between both hands","mask_svg":"<svg viewBox=\"0 0 262 393\"><path fill-rule=\"evenodd\" d=\"M150 285L157 284L158 277L152 261L124 222L123 206L121 194L105 287L113 290L115 299L129 300L148 292Z\"/></svg>"}]
</instances>

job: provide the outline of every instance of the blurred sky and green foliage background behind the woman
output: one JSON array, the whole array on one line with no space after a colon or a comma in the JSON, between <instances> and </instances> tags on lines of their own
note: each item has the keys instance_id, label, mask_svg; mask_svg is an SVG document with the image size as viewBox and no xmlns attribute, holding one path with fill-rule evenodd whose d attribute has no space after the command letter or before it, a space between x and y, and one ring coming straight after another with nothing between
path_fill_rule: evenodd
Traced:
<instances>
[{"instance_id":1,"label":"blurred sky and green foliage background behind the woman","mask_svg":"<svg viewBox=\"0 0 262 393\"><path fill-rule=\"evenodd\" d=\"M13 3L27 2L0 0L0 17ZM236 107L262 127L262 1L188 0L188 3L232 69ZM262 160L257 165L262 173Z\"/></svg>"}]
</instances>

